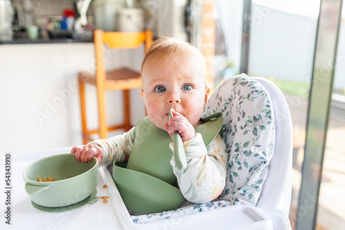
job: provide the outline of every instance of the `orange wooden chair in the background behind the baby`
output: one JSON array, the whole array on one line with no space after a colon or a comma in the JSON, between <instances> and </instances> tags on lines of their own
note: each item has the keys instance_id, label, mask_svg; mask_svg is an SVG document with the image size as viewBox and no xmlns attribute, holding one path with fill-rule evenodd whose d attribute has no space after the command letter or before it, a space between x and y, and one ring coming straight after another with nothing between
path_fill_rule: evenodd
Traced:
<instances>
[{"instance_id":1,"label":"orange wooden chair in the background behind the baby","mask_svg":"<svg viewBox=\"0 0 345 230\"><path fill-rule=\"evenodd\" d=\"M92 138L91 134L99 134L99 138L106 138L107 132L115 129L128 131L130 125L130 95L129 90L141 87L141 77L139 72L121 67L119 69L106 71L104 67L104 45L111 49L133 49L145 44L145 52L148 51L152 43L152 31L144 32L103 32L95 30L95 62L96 72L79 72L79 95L81 105L81 123L83 132L83 144L88 143ZM90 83L97 87L97 102L99 129L90 130L86 125L86 103L85 103L85 83ZM106 124L106 98L107 90L123 90L124 94L124 123L108 127Z\"/></svg>"}]
</instances>

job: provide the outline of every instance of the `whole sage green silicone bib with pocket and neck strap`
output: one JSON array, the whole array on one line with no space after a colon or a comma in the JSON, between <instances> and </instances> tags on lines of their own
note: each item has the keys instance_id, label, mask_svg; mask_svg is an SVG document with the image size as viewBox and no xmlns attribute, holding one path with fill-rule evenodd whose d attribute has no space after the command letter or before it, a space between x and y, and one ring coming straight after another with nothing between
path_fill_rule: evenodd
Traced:
<instances>
[{"instance_id":1,"label":"whole sage green silicone bib with pocket and neck strap","mask_svg":"<svg viewBox=\"0 0 345 230\"><path fill-rule=\"evenodd\" d=\"M201 121L203 124L195 127L195 132L202 135L208 146L217 134L222 134L223 117L217 113ZM112 178L121 198L137 214L177 209L184 202L170 165L170 142L165 130L153 125L148 117L142 118L135 126L135 142L128 163L114 163Z\"/></svg>"}]
</instances>

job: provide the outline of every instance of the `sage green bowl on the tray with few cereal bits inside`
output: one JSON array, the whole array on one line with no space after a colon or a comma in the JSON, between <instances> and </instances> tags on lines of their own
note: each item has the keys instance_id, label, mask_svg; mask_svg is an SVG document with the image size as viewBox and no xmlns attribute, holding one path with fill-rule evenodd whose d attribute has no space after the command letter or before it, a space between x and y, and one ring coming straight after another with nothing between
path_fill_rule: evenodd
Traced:
<instances>
[{"instance_id":1,"label":"sage green bowl on the tray with few cereal bits inside","mask_svg":"<svg viewBox=\"0 0 345 230\"><path fill-rule=\"evenodd\" d=\"M39 182L38 177L54 177ZM75 154L58 154L34 161L23 170L25 189L32 202L44 207L65 207L88 198L98 183L97 159L81 163Z\"/></svg>"}]
</instances>

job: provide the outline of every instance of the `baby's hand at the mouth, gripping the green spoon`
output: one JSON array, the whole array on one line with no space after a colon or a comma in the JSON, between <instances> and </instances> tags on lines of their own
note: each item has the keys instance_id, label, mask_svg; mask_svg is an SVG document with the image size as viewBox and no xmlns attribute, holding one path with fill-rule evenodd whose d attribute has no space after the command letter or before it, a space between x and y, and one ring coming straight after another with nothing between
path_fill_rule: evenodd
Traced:
<instances>
[{"instance_id":1,"label":"baby's hand at the mouth, gripping the green spoon","mask_svg":"<svg viewBox=\"0 0 345 230\"><path fill-rule=\"evenodd\" d=\"M195 137L195 129L193 125L189 123L187 118L179 114L179 112L172 111L173 117L170 118L169 123L164 125L166 132L171 136L174 132L179 132L182 141L190 140Z\"/></svg>"}]
</instances>

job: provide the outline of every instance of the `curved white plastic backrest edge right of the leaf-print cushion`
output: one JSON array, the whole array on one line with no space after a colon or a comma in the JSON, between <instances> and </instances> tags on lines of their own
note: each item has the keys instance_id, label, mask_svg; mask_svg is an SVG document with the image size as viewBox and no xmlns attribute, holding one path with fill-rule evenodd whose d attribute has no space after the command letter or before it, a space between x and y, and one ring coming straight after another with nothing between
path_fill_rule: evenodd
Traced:
<instances>
[{"instance_id":1,"label":"curved white plastic backrest edge right of the leaf-print cushion","mask_svg":"<svg viewBox=\"0 0 345 230\"><path fill-rule=\"evenodd\" d=\"M270 94L275 114L275 149L257 207L273 207L288 215L291 200L293 125L284 95L273 82L254 77Z\"/></svg>"}]
</instances>

